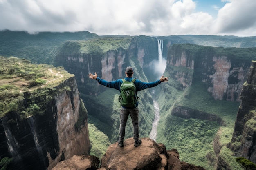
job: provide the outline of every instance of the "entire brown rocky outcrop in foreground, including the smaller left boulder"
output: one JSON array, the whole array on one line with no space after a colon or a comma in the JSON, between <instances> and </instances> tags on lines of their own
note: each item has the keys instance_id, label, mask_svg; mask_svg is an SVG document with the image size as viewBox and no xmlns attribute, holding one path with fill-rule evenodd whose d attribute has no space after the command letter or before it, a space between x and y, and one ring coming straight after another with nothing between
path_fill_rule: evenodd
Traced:
<instances>
[{"instance_id":1,"label":"entire brown rocky outcrop in foreground, including the smaller left boulder","mask_svg":"<svg viewBox=\"0 0 256 170\"><path fill-rule=\"evenodd\" d=\"M97 158L75 155L62 161L53 170L96 170ZM150 138L142 138L142 144L134 146L133 138L124 141L124 147L117 142L111 144L101 159L97 170L205 170L179 159L176 149L166 150L164 144L157 144Z\"/></svg>"}]
</instances>

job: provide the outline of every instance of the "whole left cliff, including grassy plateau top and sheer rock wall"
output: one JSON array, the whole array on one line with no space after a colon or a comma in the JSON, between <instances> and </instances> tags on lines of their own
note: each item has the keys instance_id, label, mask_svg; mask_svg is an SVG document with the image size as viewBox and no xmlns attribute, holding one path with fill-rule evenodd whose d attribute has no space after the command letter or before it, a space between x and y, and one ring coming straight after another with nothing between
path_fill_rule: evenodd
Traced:
<instances>
[{"instance_id":1,"label":"whole left cliff, including grassy plateau top and sheer rock wall","mask_svg":"<svg viewBox=\"0 0 256 170\"><path fill-rule=\"evenodd\" d=\"M49 170L87 154L88 116L74 75L17 57L0 64L0 168Z\"/></svg>"}]
</instances>

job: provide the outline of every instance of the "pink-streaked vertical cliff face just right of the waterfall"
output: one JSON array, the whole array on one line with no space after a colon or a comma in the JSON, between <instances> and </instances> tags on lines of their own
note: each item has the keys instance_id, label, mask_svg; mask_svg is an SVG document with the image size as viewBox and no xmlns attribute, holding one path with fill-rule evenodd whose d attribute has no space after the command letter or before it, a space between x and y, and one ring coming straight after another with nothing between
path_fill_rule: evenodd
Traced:
<instances>
[{"instance_id":1,"label":"pink-streaked vertical cliff face just right of the waterfall","mask_svg":"<svg viewBox=\"0 0 256 170\"><path fill-rule=\"evenodd\" d=\"M236 49L232 49L236 51ZM250 65L219 47L175 44L169 49L167 65L181 89L202 82L216 100L240 101L239 94Z\"/></svg>"}]
</instances>

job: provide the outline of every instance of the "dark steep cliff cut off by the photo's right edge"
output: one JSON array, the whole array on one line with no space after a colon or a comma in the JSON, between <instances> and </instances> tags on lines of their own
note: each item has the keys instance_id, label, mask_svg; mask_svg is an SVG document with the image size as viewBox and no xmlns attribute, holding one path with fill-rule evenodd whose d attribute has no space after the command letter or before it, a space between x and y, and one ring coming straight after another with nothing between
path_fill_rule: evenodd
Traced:
<instances>
[{"instance_id":1,"label":"dark steep cliff cut off by the photo's right edge","mask_svg":"<svg viewBox=\"0 0 256 170\"><path fill-rule=\"evenodd\" d=\"M240 95L234 133L230 144L237 156L256 163L256 62L253 61Z\"/></svg>"}]
</instances>

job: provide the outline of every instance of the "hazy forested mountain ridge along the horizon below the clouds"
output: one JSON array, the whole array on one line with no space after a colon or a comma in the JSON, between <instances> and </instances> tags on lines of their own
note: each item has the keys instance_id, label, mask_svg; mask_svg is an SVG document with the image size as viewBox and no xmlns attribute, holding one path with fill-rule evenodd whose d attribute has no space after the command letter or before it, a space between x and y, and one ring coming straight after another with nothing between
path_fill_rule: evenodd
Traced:
<instances>
[{"instance_id":1,"label":"hazy forested mountain ridge along the horizon below the clouds","mask_svg":"<svg viewBox=\"0 0 256 170\"><path fill-rule=\"evenodd\" d=\"M128 35L99 36L88 31L79 32L38 32L29 34L26 31L0 31L0 56L20 57L33 63L52 64L58 47L65 41L92 40L104 37L131 37ZM167 40L169 45L164 47L166 57L168 47L172 44L198 44L204 46L222 47L256 47L256 37L217 36L217 35L170 35L154 36ZM37 57L36 57L37 56Z\"/></svg>"}]
</instances>

